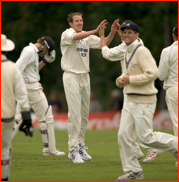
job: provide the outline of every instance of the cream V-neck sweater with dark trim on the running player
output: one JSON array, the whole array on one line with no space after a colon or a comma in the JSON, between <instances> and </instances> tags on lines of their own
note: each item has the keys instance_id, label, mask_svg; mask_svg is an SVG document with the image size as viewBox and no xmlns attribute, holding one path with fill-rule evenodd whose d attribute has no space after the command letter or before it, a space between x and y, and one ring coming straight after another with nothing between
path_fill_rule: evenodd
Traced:
<instances>
[{"instance_id":1,"label":"cream V-neck sweater with dark trim on the running player","mask_svg":"<svg viewBox=\"0 0 179 182\"><path fill-rule=\"evenodd\" d=\"M139 44L136 40L127 46L124 74L129 74L129 84L125 87L125 94L128 95L128 100L134 103L155 103L158 90L154 86L154 81L158 77L158 69L150 51L145 46L140 46L127 64Z\"/></svg>"}]
</instances>

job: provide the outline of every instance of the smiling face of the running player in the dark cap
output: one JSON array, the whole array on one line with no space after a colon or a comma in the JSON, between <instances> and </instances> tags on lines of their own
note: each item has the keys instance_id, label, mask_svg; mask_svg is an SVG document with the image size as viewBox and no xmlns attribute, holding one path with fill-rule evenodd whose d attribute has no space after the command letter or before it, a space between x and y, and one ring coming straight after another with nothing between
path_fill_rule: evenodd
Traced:
<instances>
[{"instance_id":1,"label":"smiling face of the running player in the dark cap","mask_svg":"<svg viewBox=\"0 0 179 182\"><path fill-rule=\"evenodd\" d=\"M123 41L126 45L130 45L139 37L139 33L136 33L134 30L125 28L123 31Z\"/></svg>"}]
</instances>

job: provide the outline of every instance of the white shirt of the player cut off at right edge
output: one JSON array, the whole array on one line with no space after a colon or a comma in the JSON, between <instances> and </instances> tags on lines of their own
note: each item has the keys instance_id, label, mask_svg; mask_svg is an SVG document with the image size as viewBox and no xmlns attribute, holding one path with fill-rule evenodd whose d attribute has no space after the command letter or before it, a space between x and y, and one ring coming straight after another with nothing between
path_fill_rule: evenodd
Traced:
<instances>
[{"instance_id":1,"label":"white shirt of the player cut off at right edge","mask_svg":"<svg viewBox=\"0 0 179 182\"><path fill-rule=\"evenodd\" d=\"M178 41L162 50L159 63L159 79L164 80L164 90L178 86Z\"/></svg>"}]
</instances>

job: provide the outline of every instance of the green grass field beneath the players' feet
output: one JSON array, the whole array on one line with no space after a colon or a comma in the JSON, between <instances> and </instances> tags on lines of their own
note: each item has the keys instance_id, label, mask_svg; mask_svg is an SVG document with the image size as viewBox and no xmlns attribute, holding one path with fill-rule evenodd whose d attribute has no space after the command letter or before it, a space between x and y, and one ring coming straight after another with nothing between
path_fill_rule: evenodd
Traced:
<instances>
[{"instance_id":1,"label":"green grass field beneath the players' feet","mask_svg":"<svg viewBox=\"0 0 179 182\"><path fill-rule=\"evenodd\" d=\"M168 132L168 131L167 131ZM11 181L115 181L123 175L117 144L117 131L87 131L86 145L92 161L73 164L67 158L67 131L55 131L56 145L65 151L62 157L42 156L42 141L38 130L34 137L19 132L12 141ZM146 149L142 149L147 154ZM149 164L140 164L143 181L178 181L175 157L164 152Z\"/></svg>"}]
</instances>

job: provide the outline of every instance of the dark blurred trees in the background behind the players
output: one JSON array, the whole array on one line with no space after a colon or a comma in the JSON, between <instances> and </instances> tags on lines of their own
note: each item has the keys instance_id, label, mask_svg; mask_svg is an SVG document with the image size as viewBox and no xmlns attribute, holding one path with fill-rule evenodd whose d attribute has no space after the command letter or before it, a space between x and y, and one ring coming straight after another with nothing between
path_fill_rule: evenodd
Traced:
<instances>
[{"instance_id":1,"label":"dark blurred trees in the background behind the players","mask_svg":"<svg viewBox=\"0 0 179 182\"><path fill-rule=\"evenodd\" d=\"M3 1L1 2L1 33L6 34L16 44L9 54L14 62L21 50L29 42L35 43L39 37L50 36L55 41L57 57L53 64L46 65L40 72L41 83L47 98L52 90L58 91L62 111L67 112L67 104L62 83L60 37L67 29L67 16L71 12L82 12L84 30L95 29L103 20L108 20L106 36L115 19L120 23L132 20L140 26L140 38L154 56L157 65L164 47L172 43L172 29L178 23L177 1ZM120 43L116 34L110 47ZM115 80L121 73L120 62L105 60L100 50L90 51L91 90L102 104L102 110L109 110L111 92L116 89ZM159 93L162 83L157 79ZM120 90L122 93L122 90ZM158 98L159 94L158 94ZM164 100L164 98L162 97ZM158 108L160 108L160 100ZM161 106L162 107L162 106Z\"/></svg>"}]
</instances>

